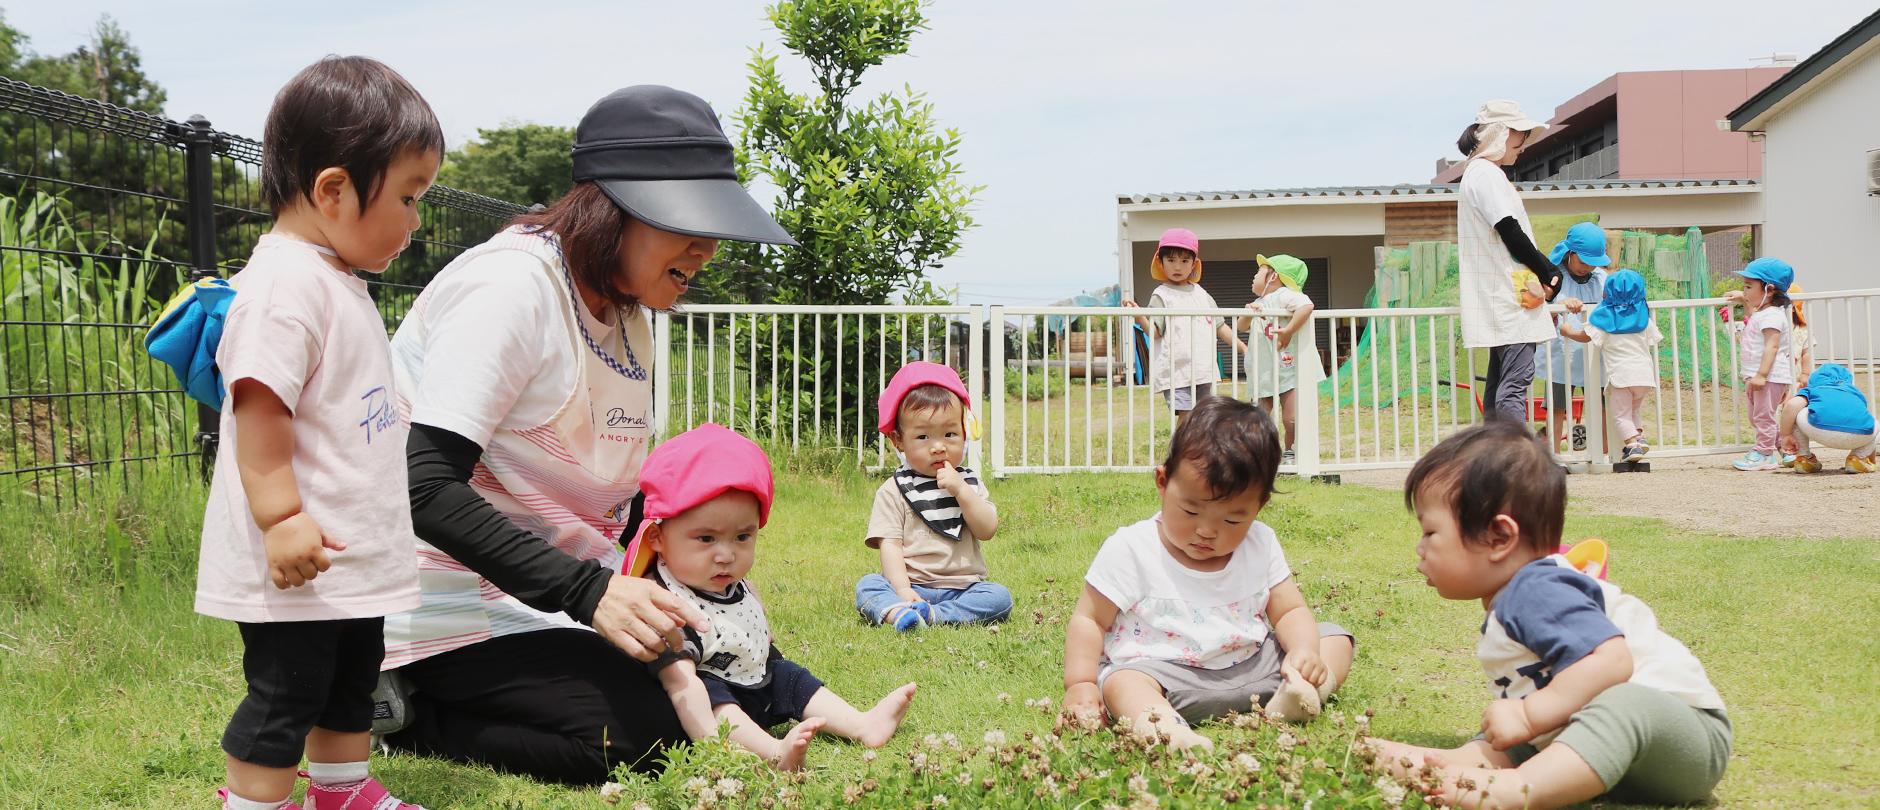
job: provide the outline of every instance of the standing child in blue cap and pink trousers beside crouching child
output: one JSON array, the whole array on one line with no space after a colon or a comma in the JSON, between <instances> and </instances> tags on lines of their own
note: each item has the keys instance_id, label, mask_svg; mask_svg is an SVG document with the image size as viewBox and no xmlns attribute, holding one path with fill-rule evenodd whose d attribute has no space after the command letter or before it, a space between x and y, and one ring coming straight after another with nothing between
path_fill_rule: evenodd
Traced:
<instances>
[{"instance_id":1,"label":"standing child in blue cap and pink trousers beside crouching child","mask_svg":"<svg viewBox=\"0 0 1880 810\"><path fill-rule=\"evenodd\" d=\"M1788 351L1790 331L1795 329L1788 286L1795 282L1795 269L1788 261L1763 256L1739 274L1743 308L1748 310L1739 333L1741 374L1748 383L1745 395L1750 425L1756 427L1756 447L1733 466L1743 472L1769 472L1782 466L1777 455L1778 412L1788 398L1788 383L1795 382L1795 361Z\"/></svg>"}]
</instances>

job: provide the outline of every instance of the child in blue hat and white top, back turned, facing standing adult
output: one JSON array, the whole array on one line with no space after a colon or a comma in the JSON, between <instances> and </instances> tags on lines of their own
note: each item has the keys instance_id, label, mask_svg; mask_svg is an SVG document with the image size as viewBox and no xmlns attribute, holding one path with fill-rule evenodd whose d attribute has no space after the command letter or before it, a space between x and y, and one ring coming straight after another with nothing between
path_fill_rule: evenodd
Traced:
<instances>
[{"instance_id":1,"label":"child in blue hat and white top, back turned, facing standing adult","mask_svg":"<svg viewBox=\"0 0 1880 810\"><path fill-rule=\"evenodd\" d=\"M1645 397L1658 387L1658 342L1664 333L1651 319L1645 276L1634 271L1613 273L1606 278L1604 293L1600 306L1587 316L1585 329L1562 319L1560 335L1600 348L1613 419L1624 440L1619 460L1637 460L1651 449L1645 444Z\"/></svg>"}]
</instances>

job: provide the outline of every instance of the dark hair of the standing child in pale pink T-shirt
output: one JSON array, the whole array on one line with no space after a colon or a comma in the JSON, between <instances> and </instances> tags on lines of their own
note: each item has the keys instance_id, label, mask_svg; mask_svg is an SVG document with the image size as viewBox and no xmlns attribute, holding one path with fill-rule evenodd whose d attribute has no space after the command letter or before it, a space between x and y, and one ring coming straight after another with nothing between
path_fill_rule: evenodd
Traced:
<instances>
[{"instance_id":1,"label":"dark hair of the standing child in pale pink T-shirt","mask_svg":"<svg viewBox=\"0 0 1880 810\"><path fill-rule=\"evenodd\" d=\"M444 128L425 98L384 62L327 56L274 94L261 135L261 199L280 214L310 197L321 171L340 167L365 209L406 152L444 154Z\"/></svg>"}]
</instances>

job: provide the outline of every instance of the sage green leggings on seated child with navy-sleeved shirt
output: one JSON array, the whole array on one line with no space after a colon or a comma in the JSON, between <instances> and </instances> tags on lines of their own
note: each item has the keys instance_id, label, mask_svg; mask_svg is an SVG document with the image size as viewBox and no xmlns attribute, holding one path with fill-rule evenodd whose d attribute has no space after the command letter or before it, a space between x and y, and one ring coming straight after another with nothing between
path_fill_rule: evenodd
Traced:
<instances>
[{"instance_id":1,"label":"sage green leggings on seated child with navy-sleeved shirt","mask_svg":"<svg viewBox=\"0 0 1880 810\"><path fill-rule=\"evenodd\" d=\"M1686 804L1711 795L1730 763L1731 727L1722 709L1692 709L1651 686L1619 684L1574 712L1553 744L1579 754L1606 795L1647 804ZM1534 746L1513 746L1521 765Z\"/></svg>"}]
</instances>

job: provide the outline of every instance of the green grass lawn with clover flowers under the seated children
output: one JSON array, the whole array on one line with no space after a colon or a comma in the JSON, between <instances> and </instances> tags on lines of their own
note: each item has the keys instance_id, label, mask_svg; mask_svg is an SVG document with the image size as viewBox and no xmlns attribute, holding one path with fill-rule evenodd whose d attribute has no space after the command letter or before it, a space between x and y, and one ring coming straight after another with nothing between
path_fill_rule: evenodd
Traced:
<instances>
[{"instance_id":1,"label":"green grass lawn with clover flowers under the seated children","mask_svg":"<svg viewBox=\"0 0 1880 810\"><path fill-rule=\"evenodd\" d=\"M1181 772L1179 757L1119 754L1109 735L1066 735L1062 752L1028 744L1026 731L1053 727L1049 710L1025 701L1060 697L1064 620L1081 573L1115 526L1154 509L1149 479L995 481L1004 526L987 556L995 579L1017 598L1011 620L996 633L895 635L863 626L852 607L855 579L876 566L861 532L878 481L827 472L831 464L780 475L752 577L784 652L852 703L870 705L908 680L921 684L901 737L872 761L859 746L818 740L801 782L771 780L729 754L696 750L679 755L660 782L630 782L620 806L635 799L703 804L697 787L737 778L737 795L718 797L716 806L940 806L934 795L949 793L949 806L1096 810L1128 806L1132 774L1147 778L1162 806L1228 799L1384 806L1369 776L1344 759L1355 716L1374 710L1371 725L1386 737L1453 744L1474 731L1487 701L1474 662L1481 609L1446 603L1421 584L1412 571L1416 524L1401 496L1288 481L1261 519L1278 532L1314 611L1357 633L1357 663L1333 705L1354 722L1340 727L1327 716L1295 731L1303 740L1293 754L1282 752L1290 740L1278 729L1207 729L1224 746L1203 759L1205 774L1194 765ZM17 494L0 502L0 806L211 806L222 780L216 742L241 695L241 646L231 624L190 611L201 500L203 489L184 475L149 475L141 487L98 485L77 507L34 507ZM1613 543L1613 581L1690 645L1730 705L1737 744L1716 789L1720 806L1880 802L1872 755L1880 744L1880 678L1872 675L1880 543L1692 536L1575 504L1568 537L1585 536ZM944 737L936 746L921 742L951 733L983 748L989 731L1011 744L963 763ZM1026 746L1042 752L1015 752ZM1263 763L1258 776L1239 772L1250 787L1230 786L1237 752ZM1015 761L993 761L998 755ZM929 769L944 759L942 774L912 765L929 757ZM957 786L955 776L968 771L968 784ZM442 761L400 755L374 761L374 772L432 810L607 806L594 789ZM694 778L705 782L688 789ZM979 778L993 778L993 787L983 789ZM863 793L865 780L876 789ZM1073 780L1085 784L1085 799L1049 795ZM1282 787L1288 780L1301 789ZM776 791L788 791L786 801Z\"/></svg>"}]
</instances>

